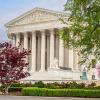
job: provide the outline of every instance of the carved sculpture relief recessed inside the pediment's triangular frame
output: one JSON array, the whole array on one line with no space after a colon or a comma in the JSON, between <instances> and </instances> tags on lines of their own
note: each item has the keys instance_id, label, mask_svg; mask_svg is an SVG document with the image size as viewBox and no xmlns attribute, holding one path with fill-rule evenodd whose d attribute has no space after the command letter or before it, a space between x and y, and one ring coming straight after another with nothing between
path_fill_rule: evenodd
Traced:
<instances>
[{"instance_id":1,"label":"carved sculpture relief recessed inside the pediment's triangular frame","mask_svg":"<svg viewBox=\"0 0 100 100\"><path fill-rule=\"evenodd\" d=\"M42 22L52 21L57 19L58 19L57 16L54 16L47 12L34 11L33 13L19 19L18 21L12 23L11 25L42 23Z\"/></svg>"}]
</instances>

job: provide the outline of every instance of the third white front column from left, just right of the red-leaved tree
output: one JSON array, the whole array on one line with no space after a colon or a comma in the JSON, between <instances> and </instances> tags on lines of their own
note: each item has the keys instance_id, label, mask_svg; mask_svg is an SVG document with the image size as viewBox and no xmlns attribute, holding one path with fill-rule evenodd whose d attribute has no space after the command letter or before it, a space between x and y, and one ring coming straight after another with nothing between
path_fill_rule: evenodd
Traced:
<instances>
[{"instance_id":1,"label":"third white front column from left, just right of the red-leaved tree","mask_svg":"<svg viewBox=\"0 0 100 100\"><path fill-rule=\"evenodd\" d=\"M36 71L36 33L32 32L32 67L31 72Z\"/></svg>"}]
</instances>

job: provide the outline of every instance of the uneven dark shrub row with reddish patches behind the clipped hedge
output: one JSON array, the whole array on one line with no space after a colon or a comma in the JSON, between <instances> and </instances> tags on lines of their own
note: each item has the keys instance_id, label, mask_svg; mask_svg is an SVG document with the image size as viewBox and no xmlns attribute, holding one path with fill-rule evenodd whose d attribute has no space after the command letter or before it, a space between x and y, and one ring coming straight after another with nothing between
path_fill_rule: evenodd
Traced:
<instances>
[{"instance_id":1,"label":"uneven dark shrub row with reddish patches behind the clipped hedge","mask_svg":"<svg viewBox=\"0 0 100 100\"><path fill-rule=\"evenodd\" d=\"M0 88L4 87L2 85ZM35 82L32 84L29 83L13 83L10 87L38 87L38 88L49 88L49 89L64 89L64 88L73 88L73 89L100 89L100 86L96 86L96 83L92 82L88 85L85 83L76 83L75 81L72 82L62 82L62 83L43 83L42 81Z\"/></svg>"}]
</instances>

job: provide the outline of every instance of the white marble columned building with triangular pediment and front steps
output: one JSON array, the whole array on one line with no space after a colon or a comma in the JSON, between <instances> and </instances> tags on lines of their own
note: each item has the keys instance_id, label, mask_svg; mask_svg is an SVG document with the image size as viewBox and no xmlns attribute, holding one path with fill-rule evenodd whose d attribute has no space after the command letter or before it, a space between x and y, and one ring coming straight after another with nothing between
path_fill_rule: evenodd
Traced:
<instances>
[{"instance_id":1,"label":"white marble columned building with triangular pediment and front steps","mask_svg":"<svg viewBox=\"0 0 100 100\"><path fill-rule=\"evenodd\" d=\"M68 19L69 13L36 7L6 24L8 38L32 51L27 58L31 76L24 80L80 80L77 52L65 48L57 35L65 27L61 17Z\"/></svg>"}]
</instances>

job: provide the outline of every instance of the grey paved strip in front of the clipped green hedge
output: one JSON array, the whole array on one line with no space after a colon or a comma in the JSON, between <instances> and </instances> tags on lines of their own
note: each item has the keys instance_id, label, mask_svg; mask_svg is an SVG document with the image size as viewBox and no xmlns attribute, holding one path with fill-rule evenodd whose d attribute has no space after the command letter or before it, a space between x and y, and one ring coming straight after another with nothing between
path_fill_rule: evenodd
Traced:
<instances>
[{"instance_id":1,"label":"grey paved strip in front of the clipped green hedge","mask_svg":"<svg viewBox=\"0 0 100 100\"><path fill-rule=\"evenodd\" d=\"M0 100L100 100L100 98L0 96Z\"/></svg>"}]
</instances>

